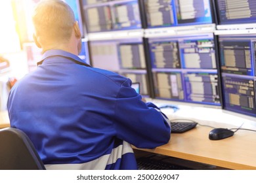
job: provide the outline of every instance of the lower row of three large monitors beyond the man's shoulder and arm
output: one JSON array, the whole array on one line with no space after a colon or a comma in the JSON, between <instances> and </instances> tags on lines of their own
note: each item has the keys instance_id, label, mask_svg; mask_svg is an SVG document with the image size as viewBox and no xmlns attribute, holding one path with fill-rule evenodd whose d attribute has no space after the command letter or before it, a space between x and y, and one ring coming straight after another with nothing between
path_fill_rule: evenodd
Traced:
<instances>
[{"instance_id":1,"label":"lower row of three large monitors beyond the man's shoulder and arm","mask_svg":"<svg viewBox=\"0 0 256 183\"><path fill-rule=\"evenodd\" d=\"M256 116L255 41L205 33L90 41L89 48L94 67L140 82L142 95Z\"/></svg>"}]
</instances>

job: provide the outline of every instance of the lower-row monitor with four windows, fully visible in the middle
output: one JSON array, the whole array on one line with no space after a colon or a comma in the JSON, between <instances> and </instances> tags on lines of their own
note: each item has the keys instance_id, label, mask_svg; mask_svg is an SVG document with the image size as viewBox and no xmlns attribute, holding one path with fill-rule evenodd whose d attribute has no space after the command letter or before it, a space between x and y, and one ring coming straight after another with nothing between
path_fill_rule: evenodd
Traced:
<instances>
[{"instance_id":1,"label":"lower-row monitor with four windows, fully visible in the middle","mask_svg":"<svg viewBox=\"0 0 256 183\"><path fill-rule=\"evenodd\" d=\"M221 107L213 33L148 39L154 95Z\"/></svg>"}]
</instances>

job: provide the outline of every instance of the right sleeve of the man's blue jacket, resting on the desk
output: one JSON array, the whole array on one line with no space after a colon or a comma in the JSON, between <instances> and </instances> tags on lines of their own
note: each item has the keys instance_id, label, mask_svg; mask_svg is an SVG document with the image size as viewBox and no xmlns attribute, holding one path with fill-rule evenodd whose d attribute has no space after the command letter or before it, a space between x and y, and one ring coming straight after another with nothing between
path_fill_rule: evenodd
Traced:
<instances>
[{"instance_id":1,"label":"right sleeve of the man's blue jacket, resting on the desk","mask_svg":"<svg viewBox=\"0 0 256 183\"><path fill-rule=\"evenodd\" d=\"M119 139L137 148L156 148L171 135L168 118L153 103L144 103L131 88L131 80L121 86L116 99L114 127Z\"/></svg>"}]
</instances>

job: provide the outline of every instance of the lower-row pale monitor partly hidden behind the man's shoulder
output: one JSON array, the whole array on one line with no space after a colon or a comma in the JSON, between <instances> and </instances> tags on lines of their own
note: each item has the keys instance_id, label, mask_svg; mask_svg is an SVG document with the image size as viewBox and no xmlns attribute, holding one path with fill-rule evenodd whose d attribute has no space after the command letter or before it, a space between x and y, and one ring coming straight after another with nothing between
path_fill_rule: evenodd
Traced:
<instances>
[{"instance_id":1,"label":"lower-row pale monitor partly hidden behind the man's shoulder","mask_svg":"<svg viewBox=\"0 0 256 183\"><path fill-rule=\"evenodd\" d=\"M139 82L140 93L150 95L142 37L89 41L89 50L93 67Z\"/></svg>"}]
</instances>

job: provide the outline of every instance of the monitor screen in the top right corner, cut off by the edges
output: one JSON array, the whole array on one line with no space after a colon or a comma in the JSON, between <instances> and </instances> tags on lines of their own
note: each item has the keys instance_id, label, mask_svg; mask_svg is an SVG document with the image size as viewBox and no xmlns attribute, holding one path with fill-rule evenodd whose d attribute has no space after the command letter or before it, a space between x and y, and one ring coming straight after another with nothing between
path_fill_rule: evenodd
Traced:
<instances>
[{"instance_id":1,"label":"monitor screen in the top right corner, cut off by the edges","mask_svg":"<svg viewBox=\"0 0 256 183\"><path fill-rule=\"evenodd\" d=\"M255 1L216 0L215 2L220 25L256 23Z\"/></svg>"}]
</instances>

